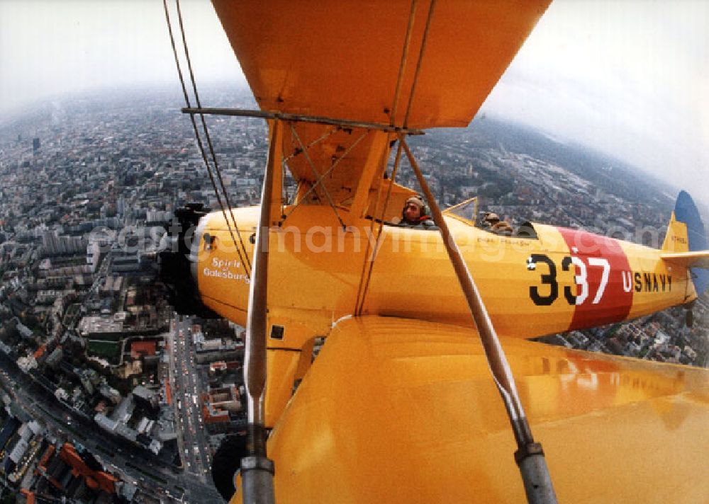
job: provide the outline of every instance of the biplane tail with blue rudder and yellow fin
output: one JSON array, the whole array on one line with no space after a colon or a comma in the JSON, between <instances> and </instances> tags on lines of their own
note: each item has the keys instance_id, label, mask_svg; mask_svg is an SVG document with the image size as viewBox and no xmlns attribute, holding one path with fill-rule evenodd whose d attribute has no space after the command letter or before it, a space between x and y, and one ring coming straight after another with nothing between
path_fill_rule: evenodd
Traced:
<instances>
[{"instance_id":1,"label":"biplane tail with blue rudder and yellow fin","mask_svg":"<svg viewBox=\"0 0 709 504\"><path fill-rule=\"evenodd\" d=\"M701 295L709 287L709 246L704 224L692 197L681 191L662 244L664 260L689 267L694 289Z\"/></svg>"}]
</instances>

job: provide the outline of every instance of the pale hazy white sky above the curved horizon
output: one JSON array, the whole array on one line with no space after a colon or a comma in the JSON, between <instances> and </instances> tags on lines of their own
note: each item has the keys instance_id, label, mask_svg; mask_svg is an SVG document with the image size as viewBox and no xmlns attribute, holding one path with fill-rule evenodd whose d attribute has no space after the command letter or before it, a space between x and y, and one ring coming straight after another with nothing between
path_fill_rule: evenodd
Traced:
<instances>
[{"instance_id":1,"label":"pale hazy white sky above the curved horizon","mask_svg":"<svg viewBox=\"0 0 709 504\"><path fill-rule=\"evenodd\" d=\"M181 5L198 83L244 82L211 4ZM131 84L179 86L161 0L0 0L0 113ZM557 0L483 110L709 202L708 97L709 1Z\"/></svg>"}]
</instances>

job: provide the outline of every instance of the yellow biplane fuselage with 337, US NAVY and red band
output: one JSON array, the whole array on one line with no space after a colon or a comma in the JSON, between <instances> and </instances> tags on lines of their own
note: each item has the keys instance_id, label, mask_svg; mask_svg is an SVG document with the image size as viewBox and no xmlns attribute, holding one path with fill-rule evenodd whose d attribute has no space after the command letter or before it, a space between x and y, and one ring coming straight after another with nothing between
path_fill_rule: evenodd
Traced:
<instances>
[{"instance_id":1,"label":"yellow biplane fuselage with 337, US NAVY and red band","mask_svg":"<svg viewBox=\"0 0 709 504\"><path fill-rule=\"evenodd\" d=\"M291 210L286 209L286 212ZM233 212L252 253L257 209ZM203 301L245 324L249 281L236 258L223 216L206 217L199 242L197 282ZM320 223L317 226L312 222ZM309 365L313 338L354 312L366 287L362 313L471 326L467 304L437 231L386 225L376 252L377 227L356 219L340 227L328 207L298 207L270 231L269 333L266 423L274 425L294 380ZM535 224L536 239L505 237L447 217L498 334L531 338L598 326L652 313L693 299L686 268L661 260L662 251ZM198 234L197 239L201 239ZM310 348L308 346L308 348Z\"/></svg>"}]
</instances>

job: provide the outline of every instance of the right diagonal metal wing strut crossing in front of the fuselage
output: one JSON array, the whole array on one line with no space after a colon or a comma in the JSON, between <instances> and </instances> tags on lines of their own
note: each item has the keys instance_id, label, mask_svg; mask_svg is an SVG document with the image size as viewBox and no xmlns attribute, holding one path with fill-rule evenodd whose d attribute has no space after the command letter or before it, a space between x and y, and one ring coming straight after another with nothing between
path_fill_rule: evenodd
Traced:
<instances>
[{"instance_id":1,"label":"right diagonal metal wing strut crossing in front of the fuselage","mask_svg":"<svg viewBox=\"0 0 709 504\"><path fill-rule=\"evenodd\" d=\"M522 402L517 394L515 379L510 370L510 365L505 357L504 350L498 340L495 328L492 325L490 316L487 312L485 304L480 292L478 291L473 277L470 275L463 256L456 245L450 230L443 219L443 214L437 205L435 197L426 183L423 174L421 173L416 160L406 143L406 137L399 134L399 142L406 151L406 156L411 164L411 168L418 179L418 183L423 190L423 193L428 200L433 221L440 228L443 244L445 244L448 257L453 265L455 274L458 277L460 286L462 287L465 299L468 302L468 307L473 316L475 326L478 329L480 339L482 340L485 356L488 365L493 374L493 379L505 403L512 430L517 441L517 451L515 452L515 462L520 468L522 479L527 493L527 501L532 504L552 504L557 502L557 496L554 493L552 480L549 476L549 469L544 458L542 445L535 442L532 437L525 411Z\"/></svg>"}]
</instances>

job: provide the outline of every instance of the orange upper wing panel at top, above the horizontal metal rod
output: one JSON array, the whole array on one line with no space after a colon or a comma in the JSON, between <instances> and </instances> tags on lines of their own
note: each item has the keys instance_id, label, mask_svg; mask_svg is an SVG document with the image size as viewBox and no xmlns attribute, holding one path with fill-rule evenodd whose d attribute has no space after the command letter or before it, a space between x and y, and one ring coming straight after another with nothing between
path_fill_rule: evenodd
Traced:
<instances>
[{"instance_id":1,"label":"orange upper wing panel at top, above the horizontal metal rod","mask_svg":"<svg viewBox=\"0 0 709 504\"><path fill-rule=\"evenodd\" d=\"M550 0L439 0L409 127L466 126ZM264 110L394 124L411 96L430 0L213 0Z\"/></svg>"}]
</instances>

